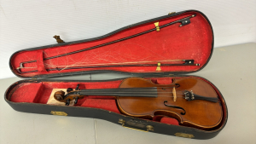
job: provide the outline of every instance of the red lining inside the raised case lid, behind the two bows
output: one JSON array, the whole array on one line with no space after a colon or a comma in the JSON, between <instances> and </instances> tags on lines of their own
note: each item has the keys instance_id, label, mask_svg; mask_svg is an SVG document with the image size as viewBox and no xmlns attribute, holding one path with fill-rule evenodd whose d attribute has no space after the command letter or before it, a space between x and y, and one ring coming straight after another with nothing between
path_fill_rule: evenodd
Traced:
<instances>
[{"instance_id":1,"label":"red lining inside the raised case lid, behind the two bows","mask_svg":"<svg viewBox=\"0 0 256 144\"><path fill-rule=\"evenodd\" d=\"M108 68L85 68L62 71L45 71L45 67L55 68L61 66L88 66L88 64L106 64L131 61L152 61L152 60L195 60L195 63L204 66L211 55L212 49L212 29L207 20L197 12L187 12L164 20L157 20L160 26L179 20L181 18L196 14L191 18L191 23L180 27L180 23L161 28L160 32L149 32L139 37L134 37L120 43L113 43L97 49L88 50L82 53L68 55L56 59L44 60L49 56L61 55L79 49L89 48L101 43L107 43L122 37L131 36L138 32L154 28L154 22L149 22L141 26L132 27L122 32L118 32L104 39L90 41L87 43L77 43L65 46L56 46L47 49L21 51L11 58L13 71L22 77L32 77L41 74L51 74L59 72L79 72L92 70L114 70L120 72L156 72L155 66L131 66L131 67L108 67ZM20 62L37 60L37 62L24 64L26 68L21 72L38 70L19 74L16 68ZM161 62L166 63L166 62ZM161 72L191 72L201 68L201 66L161 66ZM31 67L31 68L29 68Z\"/></svg>"}]
</instances>

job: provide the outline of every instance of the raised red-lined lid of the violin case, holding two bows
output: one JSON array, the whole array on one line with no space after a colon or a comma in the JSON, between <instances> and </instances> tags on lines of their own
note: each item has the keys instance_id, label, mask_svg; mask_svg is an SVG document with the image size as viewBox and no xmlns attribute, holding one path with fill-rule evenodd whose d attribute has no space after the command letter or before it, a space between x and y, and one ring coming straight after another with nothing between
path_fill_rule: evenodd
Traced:
<instances>
[{"instance_id":1,"label":"raised red-lined lid of the violin case, holding two bows","mask_svg":"<svg viewBox=\"0 0 256 144\"><path fill-rule=\"evenodd\" d=\"M130 38L121 39L125 37ZM20 78L95 72L185 74L206 66L212 49L213 32L207 16L187 10L125 26L102 37L23 49L10 57L9 66ZM73 52L78 53L65 55ZM52 58L56 55L64 56ZM194 65L185 65L191 62ZM167 66L170 64L182 66Z\"/></svg>"}]
</instances>

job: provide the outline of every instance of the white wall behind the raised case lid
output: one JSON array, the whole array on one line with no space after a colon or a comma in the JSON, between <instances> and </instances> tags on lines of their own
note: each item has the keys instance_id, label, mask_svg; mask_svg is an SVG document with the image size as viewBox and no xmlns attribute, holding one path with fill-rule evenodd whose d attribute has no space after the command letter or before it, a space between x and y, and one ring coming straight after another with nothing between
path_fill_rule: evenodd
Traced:
<instances>
[{"instance_id":1,"label":"white wall behind the raised case lid","mask_svg":"<svg viewBox=\"0 0 256 144\"><path fill-rule=\"evenodd\" d=\"M256 42L255 0L1 0L0 78L15 77L9 57L20 49L98 37L120 27L166 15L197 9L212 23L215 47ZM241 48L242 49L242 48Z\"/></svg>"}]
</instances>

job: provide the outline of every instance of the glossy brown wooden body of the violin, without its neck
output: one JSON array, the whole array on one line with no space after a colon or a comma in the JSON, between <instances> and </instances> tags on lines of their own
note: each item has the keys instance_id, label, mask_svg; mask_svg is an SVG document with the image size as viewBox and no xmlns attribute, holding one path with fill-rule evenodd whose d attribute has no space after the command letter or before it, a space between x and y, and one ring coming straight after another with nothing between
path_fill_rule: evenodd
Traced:
<instances>
[{"instance_id":1,"label":"glossy brown wooden body of the violin, without its neck","mask_svg":"<svg viewBox=\"0 0 256 144\"><path fill-rule=\"evenodd\" d=\"M172 85L179 84L177 90L177 101L172 98ZM193 90L197 95L218 98L217 93L210 84L199 78L180 78L176 79L173 84L160 85L154 84L150 79L127 78L119 88L136 88L136 87L157 87L157 97L117 97L119 110L131 117L152 119L156 115L164 115L176 118L181 125L209 130L217 126L223 117L222 107L219 102L212 101L187 101L183 98L180 90ZM166 87L166 88L165 88ZM186 114L181 109L166 107L168 105L183 107Z\"/></svg>"}]
</instances>

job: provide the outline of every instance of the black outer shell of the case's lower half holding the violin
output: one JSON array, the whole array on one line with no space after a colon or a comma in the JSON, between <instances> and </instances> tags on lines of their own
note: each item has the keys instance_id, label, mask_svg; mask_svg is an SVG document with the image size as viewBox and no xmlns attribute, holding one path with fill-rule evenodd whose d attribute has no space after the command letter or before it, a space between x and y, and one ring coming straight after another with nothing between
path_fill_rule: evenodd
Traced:
<instances>
[{"instance_id":1,"label":"black outer shell of the case's lower half holding the violin","mask_svg":"<svg viewBox=\"0 0 256 144\"><path fill-rule=\"evenodd\" d=\"M190 77L190 76L178 76L178 77ZM196 76L194 76L196 77ZM118 80L118 79L114 79ZM112 81L112 80L109 80ZM159 122L154 122L150 120L145 120L142 118L133 118L130 116L125 116L119 113L110 112L103 109L98 108L91 108L91 107L66 107L66 106L53 106L53 105L47 105L47 104L40 104L40 103L15 103L12 101L9 101L9 95L11 95L12 92L14 92L14 88L18 84L22 83L39 83L39 82L103 82L103 81L53 81L53 80L21 80L19 82L16 82L15 84L12 84L9 89L5 92L4 99L13 109L19 112L31 112L31 113L39 113L39 114L52 114L52 111L55 112L66 112L67 116L71 117L83 117L83 118L99 118L103 120L107 120L109 122L112 122L114 124L119 124L120 120L125 120L125 127L133 128L136 130L145 130L147 131L146 126L151 125L154 127L154 130L148 130L150 132L158 133L158 134L164 134L164 135L176 135L176 136L182 136L186 138L194 138L194 139L210 139L224 129L224 126L228 119L228 112L227 107L224 102L224 107L226 109L226 117L223 119L223 124L221 125L218 130L198 130L195 128L189 128L181 125L172 125L172 124L163 124ZM210 83L209 81L207 81ZM213 84L212 84L213 85ZM223 95L221 95L223 98ZM224 101L224 98L223 98ZM140 127L134 126L134 125L140 125Z\"/></svg>"}]
</instances>

